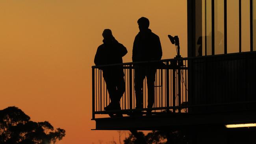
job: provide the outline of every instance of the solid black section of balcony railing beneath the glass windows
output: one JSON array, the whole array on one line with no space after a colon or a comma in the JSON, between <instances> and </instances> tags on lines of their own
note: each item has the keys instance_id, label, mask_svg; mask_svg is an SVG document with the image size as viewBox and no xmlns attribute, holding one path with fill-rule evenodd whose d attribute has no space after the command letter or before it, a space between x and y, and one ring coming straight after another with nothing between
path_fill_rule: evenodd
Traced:
<instances>
[{"instance_id":1,"label":"solid black section of balcony railing beneath the glass windows","mask_svg":"<svg viewBox=\"0 0 256 144\"><path fill-rule=\"evenodd\" d=\"M245 111L256 104L256 52L211 55L189 61L189 109L193 112ZM213 107L213 105L216 105Z\"/></svg>"}]
</instances>

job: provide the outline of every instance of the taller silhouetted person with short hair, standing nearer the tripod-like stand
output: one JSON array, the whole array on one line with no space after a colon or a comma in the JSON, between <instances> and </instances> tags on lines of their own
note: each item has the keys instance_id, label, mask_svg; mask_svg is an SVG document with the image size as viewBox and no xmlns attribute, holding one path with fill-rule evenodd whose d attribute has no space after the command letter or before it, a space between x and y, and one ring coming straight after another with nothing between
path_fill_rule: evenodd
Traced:
<instances>
[{"instance_id":1,"label":"taller silhouetted person with short hair, standing nearer the tripod-like stand","mask_svg":"<svg viewBox=\"0 0 256 144\"><path fill-rule=\"evenodd\" d=\"M132 50L132 61L155 61L162 57L162 48L158 35L152 33L149 27L149 20L145 17L139 18L139 33L134 39ZM135 64L135 95L136 109L143 108L143 80L147 77L148 86L148 108L154 105L154 81L156 67L152 63ZM148 114L151 111L147 111Z\"/></svg>"}]
</instances>

